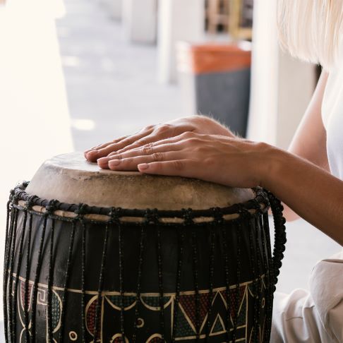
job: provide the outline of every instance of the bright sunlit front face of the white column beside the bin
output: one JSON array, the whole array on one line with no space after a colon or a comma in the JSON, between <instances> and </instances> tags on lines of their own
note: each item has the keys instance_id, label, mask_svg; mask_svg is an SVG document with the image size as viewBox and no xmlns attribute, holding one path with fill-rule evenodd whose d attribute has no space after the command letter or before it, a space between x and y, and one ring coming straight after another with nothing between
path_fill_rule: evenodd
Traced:
<instances>
[{"instance_id":1,"label":"bright sunlit front face of the white column beside the bin","mask_svg":"<svg viewBox=\"0 0 343 343\"><path fill-rule=\"evenodd\" d=\"M251 100L247 137L272 145L277 141L278 59L277 1L255 0Z\"/></svg>"}]
</instances>

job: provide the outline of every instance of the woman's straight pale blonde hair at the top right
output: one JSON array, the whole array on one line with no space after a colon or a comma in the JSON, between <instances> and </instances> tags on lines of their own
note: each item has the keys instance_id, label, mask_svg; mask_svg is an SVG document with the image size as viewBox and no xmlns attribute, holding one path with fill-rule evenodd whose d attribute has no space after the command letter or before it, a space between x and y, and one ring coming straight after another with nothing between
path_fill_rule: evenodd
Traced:
<instances>
[{"instance_id":1,"label":"woman's straight pale blonde hair at the top right","mask_svg":"<svg viewBox=\"0 0 343 343\"><path fill-rule=\"evenodd\" d=\"M330 70L343 36L343 0L277 0L279 41L292 56Z\"/></svg>"}]
</instances>

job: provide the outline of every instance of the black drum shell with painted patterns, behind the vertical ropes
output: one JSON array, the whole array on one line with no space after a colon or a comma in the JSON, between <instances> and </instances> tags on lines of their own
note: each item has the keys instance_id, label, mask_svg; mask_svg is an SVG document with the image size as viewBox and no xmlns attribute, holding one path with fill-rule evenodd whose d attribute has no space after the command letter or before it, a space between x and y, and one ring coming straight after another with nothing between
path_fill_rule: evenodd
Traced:
<instances>
[{"instance_id":1,"label":"black drum shell with painted patterns, behind the vertical ropes","mask_svg":"<svg viewBox=\"0 0 343 343\"><path fill-rule=\"evenodd\" d=\"M267 318L268 301L271 301L272 289L269 288L269 270L270 265L267 256L267 247L270 241L265 232L262 223L262 217L256 215L251 218L239 218L230 221L216 221L212 218L211 222L199 224L162 224L160 222L133 223L133 222L90 222L85 220L85 282L82 284L82 234L83 225L79 220L73 224L73 220L63 218L54 218L52 216L44 217L37 213L32 214L32 227L29 229L29 217L26 221L25 230L23 228L24 211L19 210L18 222L16 225L16 248L17 252L13 255L13 270L8 282L8 287L12 284L12 292L18 282L18 301L16 316L17 337L23 337L23 299L25 299L25 277L27 265L27 253L30 248L29 259L29 277L30 284L38 274L39 283L37 285L37 311L36 331L37 342L45 340L47 337L47 287L49 283L49 270L52 269L52 303L54 303L53 313L55 317L53 322L54 338L58 342L59 332L61 330L61 306L64 299L64 287L67 286L67 301L65 304L66 317L64 319L64 337L68 341L71 332L77 335L76 341L82 342L82 325L80 315L82 313L81 289L85 289L85 317L88 323L86 335L88 341L92 339L92 325L95 322L95 310L97 296L100 288L100 279L102 284L101 307L101 327L99 335L103 342L110 342L113 337L119 337L121 332L120 313L121 296L120 291L124 292L123 299L126 302L124 308L124 331L128 342L132 342L133 323L136 320L136 301L138 291L138 272L141 273L140 279L140 313L139 318L143 320L143 327L137 329L136 342L150 342L149 338L153 335L159 335L161 331L161 317L159 309L160 295L163 291L165 298L164 308L164 339L169 342L172 339L172 323L174 316L174 306L176 306L176 294L179 289L179 304L193 303L193 310L184 309L180 311L186 318L186 324L191 320L193 326L202 326L200 338L205 335L206 330L213 333L213 327L226 325L227 306L231 311L231 320L234 320L234 312L246 306L244 316L244 325L237 329L237 337L245 337L255 326L255 319L258 316L258 326L263 327ZM46 221L46 225L44 225ZM54 222L54 239L52 238L52 224ZM66 281L66 266L68 263L68 253L71 248L71 231L75 225L75 236L71 253L71 267ZM108 230L108 231L107 231ZM31 231L31 245L28 247L28 235ZM42 232L44 231L44 240L41 255L41 270L37 272L39 263L40 243ZM104 238L108 232L107 245L104 246ZM143 232L143 249L140 243ZM23 248L20 253L20 238L23 236ZM120 236L120 237L119 237ZM160 253L159 253L160 237ZM120 238L120 239L119 239ZM121 253L119 253L119 241L122 242ZM50 265L51 253L50 247L53 246L52 266ZM182 253L181 253L182 251ZM139 267L140 254L142 254L142 266ZM160 254L160 255L159 255ZM105 260L103 257L105 255ZM159 258L161 261L159 269ZM21 261L20 261L21 260ZM181 268L180 268L181 261ZM227 263L226 263L227 261ZM119 262L122 263L122 272ZM19 278L16 278L16 270L19 267ZM178 267L181 269L178 278ZM103 270L102 275L100 275ZM195 270L197 276L195 277ZM227 272L226 272L227 271ZM162 272L159 277L159 272ZM253 282L255 280L255 282ZM162 282L162 287L161 287ZM14 286L13 286L14 284ZM239 284L239 291L236 285ZM227 286L230 286L230 301L227 302ZM33 287L29 287L32 289ZM189 318L187 313L193 313L196 305L196 292L199 290L198 300L205 301L205 307L212 298L212 309L210 318L201 317L199 323L194 323L194 318ZM10 289L7 289L8 295ZM241 294L243 293L243 294ZM21 296L19 296L19 294ZM205 294L205 295L204 295ZM28 294L26 294L28 296ZM257 297L258 296L258 297ZM29 296L30 297L30 296ZM183 298L182 298L183 297ZM8 296L11 299L11 296ZM31 298L32 299L32 296ZM147 299L148 303L147 303ZM204 300L205 299L205 300ZM244 305L244 299L246 304ZM13 301L13 299L11 299ZM155 306L150 306L154 303ZM131 303L130 303L131 302ZM87 307L88 306L88 307ZM125 306L124 306L125 307ZM184 306L183 306L184 307ZM152 309L155 308L155 309ZM185 313L186 311L186 313ZM192 312L193 311L193 312ZM106 313L109 313L106 315ZM208 311L207 311L208 313ZM218 315L221 320L218 321ZM29 313L30 320L32 313ZM182 322L182 318L179 320ZM21 324L20 324L21 323ZM55 326L54 326L55 325ZM217 326L218 326L217 325ZM207 329L208 326L208 329ZM188 327L186 336L179 335L181 342L191 342L195 339L191 335ZM166 329L167 328L167 329ZM94 327L93 327L94 329ZM218 329L211 336L210 342L223 342L226 339L226 333ZM210 332L207 332L210 333ZM156 336L158 337L158 336ZM192 338L193 337L193 338ZM120 342L120 341L119 341ZM155 341L154 341L155 342ZM157 342L157 341L156 341Z\"/></svg>"}]
</instances>

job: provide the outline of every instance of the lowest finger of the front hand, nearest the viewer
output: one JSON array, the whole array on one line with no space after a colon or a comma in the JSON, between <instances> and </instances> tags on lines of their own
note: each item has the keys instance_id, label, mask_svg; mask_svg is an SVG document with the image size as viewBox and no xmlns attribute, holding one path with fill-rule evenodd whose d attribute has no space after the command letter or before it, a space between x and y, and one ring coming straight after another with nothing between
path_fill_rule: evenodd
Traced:
<instances>
[{"instance_id":1,"label":"lowest finger of the front hand, nearest the viewer","mask_svg":"<svg viewBox=\"0 0 343 343\"><path fill-rule=\"evenodd\" d=\"M195 162L189 159L150 162L138 164L138 170L144 174L195 177Z\"/></svg>"}]
</instances>

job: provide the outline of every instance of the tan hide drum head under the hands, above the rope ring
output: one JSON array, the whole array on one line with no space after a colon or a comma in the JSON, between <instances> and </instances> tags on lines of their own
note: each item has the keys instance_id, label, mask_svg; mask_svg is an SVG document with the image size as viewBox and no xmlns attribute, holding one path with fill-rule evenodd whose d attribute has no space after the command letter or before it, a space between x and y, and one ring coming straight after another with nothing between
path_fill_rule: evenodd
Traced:
<instances>
[{"instance_id":1,"label":"tan hide drum head under the hands, above the rope ring","mask_svg":"<svg viewBox=\"0 0 343 343\"><path fill-rule=\"evenodd\" d=\"M205 210L254 198L251 188L231 188L197 179L100 169L80 152L42 164L26 192L63 203L144 210Z\"/></svg>"}]
</instances>

